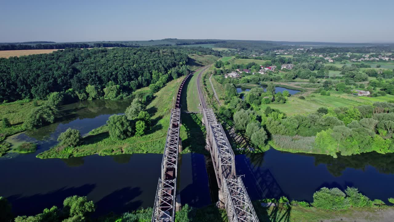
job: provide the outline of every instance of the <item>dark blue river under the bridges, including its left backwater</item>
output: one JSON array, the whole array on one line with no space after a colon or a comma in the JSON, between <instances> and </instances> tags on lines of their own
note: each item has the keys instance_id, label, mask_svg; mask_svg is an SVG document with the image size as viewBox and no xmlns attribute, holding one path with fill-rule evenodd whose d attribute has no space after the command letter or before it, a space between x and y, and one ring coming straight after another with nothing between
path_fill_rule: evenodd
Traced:
<instances>
[{"instance_id":1,"label":"dark blue river under the bridges, including its left backwater","mask_svg":"<svg viewBox=\"0 0 394 222\"><path fill-rule=\"evenodd\" d=\"M7 141L14 144L23 141L38 144L35 153L10 153L0 158L3 169L0 196L9 199L14 213L37 214L45 207L61 206L72 195L93 200L96 215L152 207L162 154L35 158L39 152L56 145L58 135L67 128L86 134L105 124L110 115L123 113L130 102L95 100L66 105L61 110L74 114L63 121L8 137ZM210 195L206 159L203 154L180 155L178 190L182 204L202 207L217 199ZM354 186L366 196L385 202L394 197L394 154L368 153L334 159L271 149L263 154L236 155L236 171L245 175L242 179L252 200L287 196L312 201L313 193L323 186L341 189Z\"/></svg>"}]
</instances>

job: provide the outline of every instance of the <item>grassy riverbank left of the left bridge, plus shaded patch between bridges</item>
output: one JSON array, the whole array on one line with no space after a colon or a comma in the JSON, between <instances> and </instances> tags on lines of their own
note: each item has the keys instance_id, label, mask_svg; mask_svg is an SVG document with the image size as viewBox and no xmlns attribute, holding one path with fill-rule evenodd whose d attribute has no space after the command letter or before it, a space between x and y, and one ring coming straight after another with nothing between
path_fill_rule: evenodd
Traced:
<instances>
[{"instance_id":1,"label":"grassy riverbank left of the left bridge, plus shaded patch between bridges","mask_svg":"<svg viewBox=\"0 0 394 222\"><path fill-rule=\"evenodd\" d=\"M104 125L91 130L88 135L82 138L81 145L77 147L58 149L58 147L55 146L47 151L41 152L37 157L45 159L70 158L93 154L99 154L101 156L132 153L162 154L164 151L167 129L169 127L171 104L175 96L173 92L177 91L182 80L183 78L179 78L167 83L165 87L154 95L152 102L147 105L146 110L152 116L152 127L145 135L117 140L109 136L108 126ZM196 136L203 136L200 119L201 118L197 117L197 115L189 115L184 118L182 114L183 122L180 127L180 137L182 138L184 152L193 151L204 153L204 145L198 142L196 143L195 141L197 140L195 139L190 139ZM197 135L198 132L193 130L195 128L198 128L201 135ZM204 141L204 139L201 139L201 141Z\"/></svg>"}]
</instances>

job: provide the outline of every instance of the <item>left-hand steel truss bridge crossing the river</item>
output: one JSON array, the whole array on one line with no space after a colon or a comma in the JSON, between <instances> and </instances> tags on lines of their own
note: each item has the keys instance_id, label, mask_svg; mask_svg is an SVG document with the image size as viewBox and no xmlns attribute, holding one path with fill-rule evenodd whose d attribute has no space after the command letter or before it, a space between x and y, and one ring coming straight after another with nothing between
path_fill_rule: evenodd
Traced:
<instances>
[{"instance_id":1,"label":"left-hand steel truss bridge crossing the river","mask_svg":"<svg viewBox=\"0 0 394 222\"><path fill-rule=\"evenodd\" d=\"M162 177L159 179L154 201L152 222L175 221L175 197L178 169L180 109L172 109L170 126L165 140Z\"/></svg>"}]
</instances>

